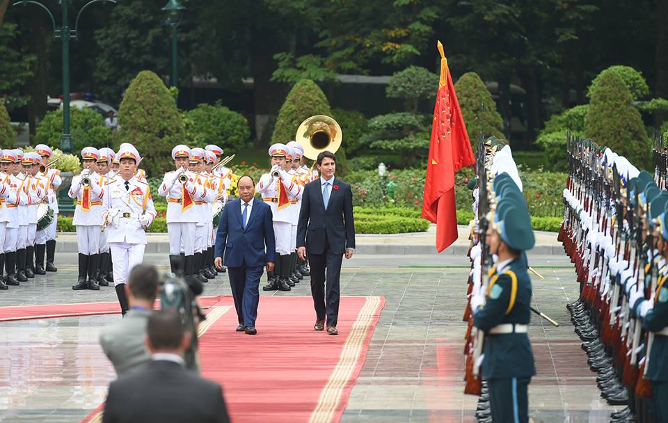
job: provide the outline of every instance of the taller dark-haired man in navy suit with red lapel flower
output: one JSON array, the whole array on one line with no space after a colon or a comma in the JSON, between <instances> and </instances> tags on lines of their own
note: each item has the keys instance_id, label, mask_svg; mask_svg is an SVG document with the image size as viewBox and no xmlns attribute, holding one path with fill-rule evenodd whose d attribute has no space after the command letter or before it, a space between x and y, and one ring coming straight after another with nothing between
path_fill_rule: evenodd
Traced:
<instances>
[{"instance_id":1,"label":"taller dark-haired man in navy suit with red lapel flower","mask_svg":"<svg viewBox=\"0 0 668 423\"><path fill-rule=\"evenodd\" d=\"M349 259L355 250L353 193L350 184L334 177L336 156L333 152L321 152L316 163L320 177L306 184L301 199L297 254L305 260L308 253L316 314L313 328L324 330L326 316L327 333L338 335L341 262L344 254Z\"/></svg>"}]
</instances>

